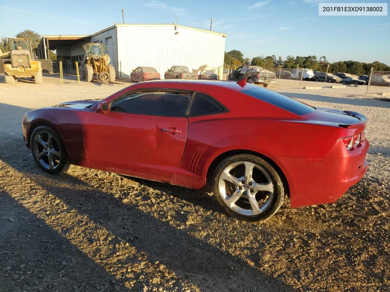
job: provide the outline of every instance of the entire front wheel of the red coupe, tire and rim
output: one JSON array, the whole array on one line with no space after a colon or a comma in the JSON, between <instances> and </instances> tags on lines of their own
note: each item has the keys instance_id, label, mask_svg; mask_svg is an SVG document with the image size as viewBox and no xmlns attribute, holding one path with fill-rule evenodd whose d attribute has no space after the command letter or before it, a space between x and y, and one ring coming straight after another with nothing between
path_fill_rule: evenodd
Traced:
<instances>
[{"instance_id":1,"label":"entire front wheel of the red coupe, tire and rim","mask_svg":"<svg viewBox=\"0 0 390 292\"><path fill-rule=\"evenodd\" d=\"M31 134L30 147L36 164L43 171L58 174L69 168L64 143L52 128L46 126L35 128Z\"/></svg>"}]
</instances>

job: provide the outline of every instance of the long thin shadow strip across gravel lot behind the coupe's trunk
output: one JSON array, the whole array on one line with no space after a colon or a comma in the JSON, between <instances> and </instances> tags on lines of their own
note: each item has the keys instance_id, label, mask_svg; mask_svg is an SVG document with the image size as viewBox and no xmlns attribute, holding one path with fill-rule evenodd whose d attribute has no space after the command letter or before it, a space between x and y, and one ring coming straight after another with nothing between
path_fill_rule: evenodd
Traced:
<instances>
[{"instance_id":1,"label":"long thin shadow strip across gravel lot behind the coupe's trunk","mask_svg":"<svg viewBox=\"0 0 390 292\"><path fill-rule=\"evenodd\" d=\"M382 100L368 100L368 99L346 99L343 97L330 97L323 95L305 94L305 93L293 93L293 92L280 92L293 99L306 99L319 102L332 102L334 104L349 104L353 106L372 106L372 107L384 107L390 109L390 102Z\"/></svg>"}]
</instances>

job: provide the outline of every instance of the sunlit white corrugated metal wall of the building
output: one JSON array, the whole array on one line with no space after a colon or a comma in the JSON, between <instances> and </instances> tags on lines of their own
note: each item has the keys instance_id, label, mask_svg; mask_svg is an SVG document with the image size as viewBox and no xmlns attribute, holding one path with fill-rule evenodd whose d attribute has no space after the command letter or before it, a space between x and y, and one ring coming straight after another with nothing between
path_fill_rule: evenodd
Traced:
<instances>
[{"instance_id":1,"label":"sunlit white corrugated metal wall of the building","mask_svg":"<svg viewBox=\"0 0 390 292\"><path fill-rule=\"evenodd\" d=\"M190 28L167 26L117 26L118 64L122 77L129 78L138 66L150 66L164 77L173 65L187 66L190 71L202 65L223 65L225 37Z\"/></svg>"}]
</instances>

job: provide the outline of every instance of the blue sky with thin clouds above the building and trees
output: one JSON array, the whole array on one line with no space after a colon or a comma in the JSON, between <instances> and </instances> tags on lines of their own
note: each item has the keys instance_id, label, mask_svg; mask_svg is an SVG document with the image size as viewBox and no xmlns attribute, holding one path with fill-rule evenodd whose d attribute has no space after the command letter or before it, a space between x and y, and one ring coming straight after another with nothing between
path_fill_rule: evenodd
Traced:
<instances>
[{"instance_id":1,"label":"blue sky with thin clouds above the building and trees","mask_svg":"<svg viewBox=\"0 0 390 292\"><path fill-rule=\"evenodd\" d=\"M45 35L90 34L114 21L122 23L124 9L125 23L174 23L178 14L181 25L209 29L213 18L213 30L228 35L225 51L238 49L248 58L316 55L330 62L390 65L390 16L318 16L319 2L326 0L67 0L61 5L0 0L0 37L25 29ZM381 1L342 1L347 2Z\"/></svg>"}]
</instances>

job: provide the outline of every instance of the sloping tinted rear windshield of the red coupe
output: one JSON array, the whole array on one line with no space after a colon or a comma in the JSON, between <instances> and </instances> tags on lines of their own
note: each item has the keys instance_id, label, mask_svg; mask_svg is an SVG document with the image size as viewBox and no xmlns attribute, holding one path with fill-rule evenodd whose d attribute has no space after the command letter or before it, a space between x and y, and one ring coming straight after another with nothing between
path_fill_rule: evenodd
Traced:
<instances>
[{"instance_id":1,"label":"sloping tinted rear windshield of the red coupe","mask_svg":"<svg viewBox=\"0 0 390 292\"><path fill-rule=\"evenodd\" d=\"M298 116L303 116L316 110L315 107L304 104L296 99L257 86L241 92L285 109L293 114L297 114Z\"/></svg>"}]
</instances>

